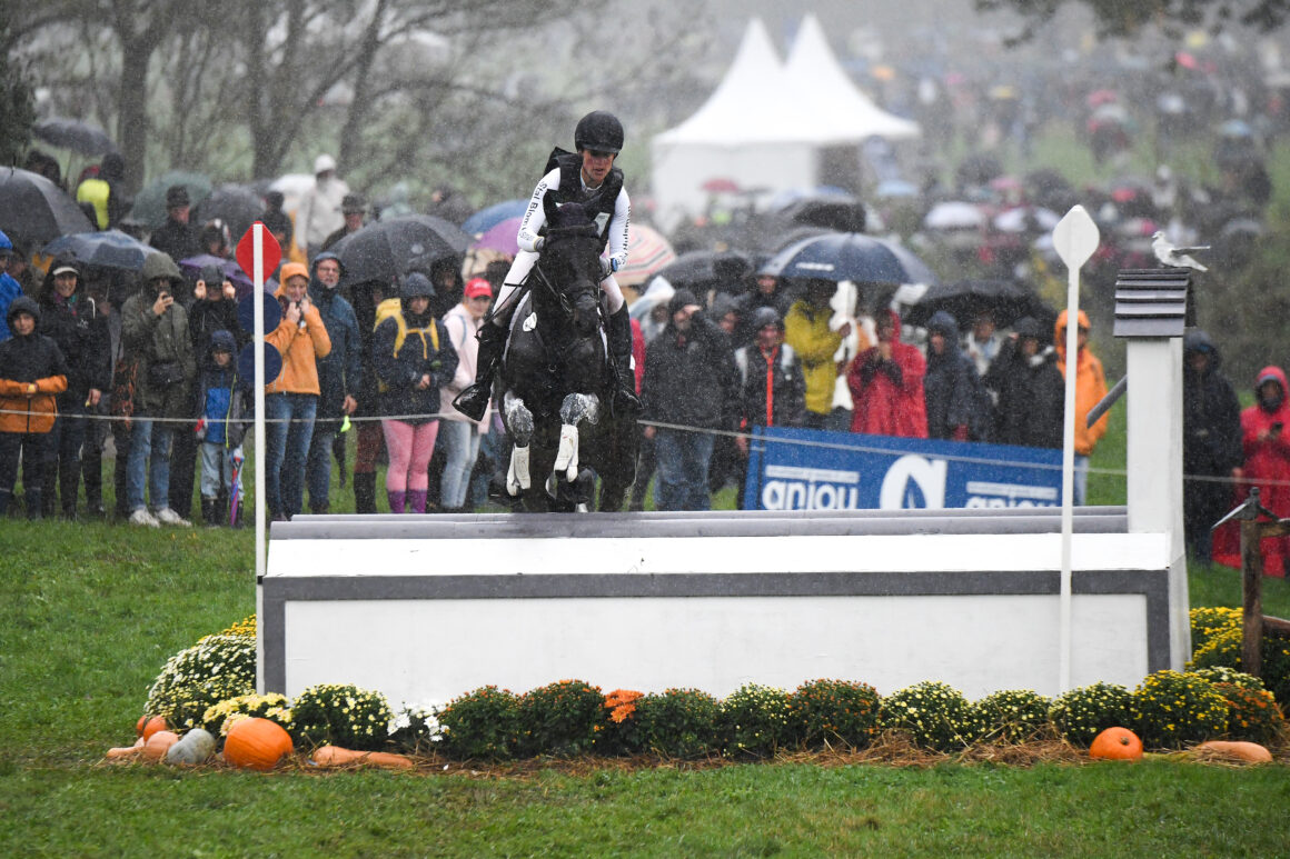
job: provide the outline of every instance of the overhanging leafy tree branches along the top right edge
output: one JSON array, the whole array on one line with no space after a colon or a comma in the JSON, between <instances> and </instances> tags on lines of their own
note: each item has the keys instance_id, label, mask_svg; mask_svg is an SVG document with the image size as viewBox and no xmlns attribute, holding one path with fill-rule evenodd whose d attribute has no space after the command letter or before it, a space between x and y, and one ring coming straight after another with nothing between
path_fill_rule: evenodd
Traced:
<instances>
[{"instance_id":1,"label":"overhanging leafy tree branches along the top right edge","mask_svg":"<svg viewBox=\"0 0 1290 859\"><path fill-rule=\"evenodd\" d=\"M1071 0L1093 12L1102 36L1131 36L1146 26L1166 30L1206 27L1219 31L1233 25L1264 32L1281 27L1290 14L1290 0ZM1069 5L1067 0L975 0L978 12L1010 9L1027 21L1022 39Z\"/></svg>"}]
</instances>

